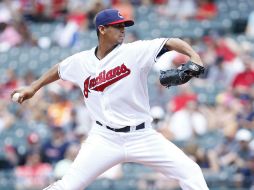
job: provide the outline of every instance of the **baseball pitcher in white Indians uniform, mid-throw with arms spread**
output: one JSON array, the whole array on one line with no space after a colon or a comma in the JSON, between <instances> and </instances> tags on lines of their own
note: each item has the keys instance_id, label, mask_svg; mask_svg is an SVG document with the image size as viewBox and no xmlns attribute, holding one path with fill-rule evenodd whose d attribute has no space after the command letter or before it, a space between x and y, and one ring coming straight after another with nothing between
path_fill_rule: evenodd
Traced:
<instances>
[{"instance_id":1,"label":"baseball pitcher in white Indians uniform, mid-throw with arms spread","mask_svg":"<svg viewBox=\"0 0 254 190\"><path fill-rule=\"evenodd\" d=\"M177 179L184 190L208 190L200 167L156 132L150 115L147 77L158 55L175 50L190 57L179 68L162 71L164 86L180 85L203 72L199 55L177 38L124 44L125 27L134 25L115 9L95 18L98 46L56 64L30 86L17 89L21 104L58 79L78 85L95 123L64 177L47 190L82 190L118 163L135 162Z\"/></svg>"}]
</instances>

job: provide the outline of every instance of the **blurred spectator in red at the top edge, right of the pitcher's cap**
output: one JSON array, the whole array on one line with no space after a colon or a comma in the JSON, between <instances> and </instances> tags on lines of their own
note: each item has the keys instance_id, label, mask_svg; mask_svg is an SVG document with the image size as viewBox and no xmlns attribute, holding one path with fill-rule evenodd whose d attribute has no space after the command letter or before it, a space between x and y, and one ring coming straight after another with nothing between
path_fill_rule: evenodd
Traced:
<instances>
[{"instance_id":1,"label":"blurred spectator in red at the top edge, right of the pitcher's cap","mask_svg":"<svg viewBox=\"0 0 254 190\"><path fill-rule=\"evenodd\" d=\"M197 0L197 20L211 20L217 16L217 5L214 0Z\"/></svg>"}]
</instances>

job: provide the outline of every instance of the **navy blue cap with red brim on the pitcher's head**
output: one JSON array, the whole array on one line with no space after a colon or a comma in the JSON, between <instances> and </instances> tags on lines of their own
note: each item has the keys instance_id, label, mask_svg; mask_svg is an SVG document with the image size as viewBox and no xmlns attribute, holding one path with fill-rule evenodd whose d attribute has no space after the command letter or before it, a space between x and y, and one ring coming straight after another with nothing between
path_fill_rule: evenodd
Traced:
<instances>
[{"instance_id":1,"label":"navy blue cap with red brim on the pitcher's head","mask_svg":"<svg viewBox=\"0 0 254 190\"><path fill-rule=\"evenodd\" d=\"M95 17L95 26L98 28L100 25L114 25L124 23L125 27L134 25L133 20L126 20L121 13L116 9L105 9L100 11Z\"/></svg>"}]
</instances>

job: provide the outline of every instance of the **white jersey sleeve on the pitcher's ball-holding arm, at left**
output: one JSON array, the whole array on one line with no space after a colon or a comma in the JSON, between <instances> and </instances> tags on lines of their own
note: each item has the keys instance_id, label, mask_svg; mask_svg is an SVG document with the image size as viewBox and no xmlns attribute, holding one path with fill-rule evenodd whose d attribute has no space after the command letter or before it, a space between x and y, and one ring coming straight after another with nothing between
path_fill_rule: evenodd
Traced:
<instances>
[{"instance_id":1,"label":"white jersey sleeve on the pitcher's ball-holding arm, at left","mask_svg":"<svg viewBox=\"0 0 254 190\"><path fill-rule=\"evenodd\" d=\"M77 54L67 57L59 63L58 75L62 80L78 83L78 71Z\"/></svg>"}]
</instances>

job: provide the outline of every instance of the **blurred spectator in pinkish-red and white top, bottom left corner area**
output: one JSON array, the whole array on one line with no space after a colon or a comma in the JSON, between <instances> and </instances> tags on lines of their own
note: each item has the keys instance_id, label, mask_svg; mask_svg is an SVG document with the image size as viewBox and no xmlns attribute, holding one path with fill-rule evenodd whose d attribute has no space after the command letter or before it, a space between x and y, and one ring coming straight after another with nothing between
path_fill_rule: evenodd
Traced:
<instances>
[{"instance_id":1,"label":"blurred spectator in pinkish-red and white top, bottom left corner area","mask_svg":"<svg viewBox=\"0 0 254 190\"><path fill-rule=\"evenodd\" d=\"M16 168L17 190L39 190L50 183L52 166L41 161L37 150L27 154L24 166Z\"/></svg>"}]
</instances>

